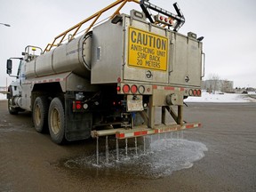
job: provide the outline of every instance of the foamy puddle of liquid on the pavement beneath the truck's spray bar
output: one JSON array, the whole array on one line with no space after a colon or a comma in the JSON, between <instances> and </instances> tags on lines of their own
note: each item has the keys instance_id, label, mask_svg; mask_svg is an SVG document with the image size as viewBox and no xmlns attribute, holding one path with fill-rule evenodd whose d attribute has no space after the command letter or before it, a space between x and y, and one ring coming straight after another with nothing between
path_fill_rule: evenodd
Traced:
<instances>
[{"instance_id":1,"label":"foamy puddle of liquid on the pavement beneath the truck's spray bar","mask_svg":"<svg viewBox=\"0 0 256 192\"><path fill-rule=\"evenodd\" d=\"M132 139L130 139L132 140ZM133 139L134 140L134 139ZM182 139L146 138L147 148L140 144L134 148L129 142L128 152L125 148L105 150L91 156L78 156L64 161L64 166L76 172L92 177L118 177L157 179L169 176L174 171L190 168L193 163L204 157L208 149L203 143ZM102 149L102 148L101 148Z\"/></svg>"}]
</instances>

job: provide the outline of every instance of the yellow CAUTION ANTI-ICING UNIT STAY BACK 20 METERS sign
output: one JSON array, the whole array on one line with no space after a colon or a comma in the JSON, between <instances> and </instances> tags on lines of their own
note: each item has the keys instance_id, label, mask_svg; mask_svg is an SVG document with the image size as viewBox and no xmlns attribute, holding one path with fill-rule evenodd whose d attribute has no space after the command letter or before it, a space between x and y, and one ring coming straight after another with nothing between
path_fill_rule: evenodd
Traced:
<instances>
[{"instance_id":1,"label":"yellow CAUTION ANTI-ICING UNIT STAY BACK 20 METERS sign","mask_svg":"<svg viewBox=\"0 0 256 192\"><path fill-rule=\"evenodd\" d=\"M168 38L129 28L128 65L166 71Z\"/></svg>"}]
</instances>

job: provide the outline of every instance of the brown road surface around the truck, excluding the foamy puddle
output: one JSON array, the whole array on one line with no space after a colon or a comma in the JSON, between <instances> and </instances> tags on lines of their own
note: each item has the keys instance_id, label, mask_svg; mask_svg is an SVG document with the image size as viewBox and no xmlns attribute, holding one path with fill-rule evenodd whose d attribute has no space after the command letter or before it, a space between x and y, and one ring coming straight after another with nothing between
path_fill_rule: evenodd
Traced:
<instances>
[{"instance_id":1,"label":"brown road surface around the truck, excluding the foamy puddle","mask_svg":"<svg viewBox=\"0 0 256 192\"><path fill-rule=\"evenodd\" d=\"M125 168L70 168L68 159L95 154L95 140L56 145L34 130L30 113L9 115L6 100L0 116L0 191L256 191L256 103L188 104L185 120L203 128L183 138L208 151L191 168L160 178L132 176Z\"/></svg>"}]
</instances>

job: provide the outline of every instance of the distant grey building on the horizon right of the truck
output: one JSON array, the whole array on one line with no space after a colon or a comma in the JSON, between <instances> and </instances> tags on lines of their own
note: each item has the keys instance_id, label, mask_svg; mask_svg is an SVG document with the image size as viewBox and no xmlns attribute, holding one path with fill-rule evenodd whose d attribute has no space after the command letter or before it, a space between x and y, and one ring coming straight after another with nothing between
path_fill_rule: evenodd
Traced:
<instances>
[{"instance_id":1,"label":"distant grey building on the horizon right of the truck","mask_svg":"<svg viewBox=\"0 0 256 192\"><path fill-rule=\"evenodd\" d=\"M233 81L228 80L205 80L202 82L202 89L208 92L233 92Z\"/></svg>"}]
</instances>

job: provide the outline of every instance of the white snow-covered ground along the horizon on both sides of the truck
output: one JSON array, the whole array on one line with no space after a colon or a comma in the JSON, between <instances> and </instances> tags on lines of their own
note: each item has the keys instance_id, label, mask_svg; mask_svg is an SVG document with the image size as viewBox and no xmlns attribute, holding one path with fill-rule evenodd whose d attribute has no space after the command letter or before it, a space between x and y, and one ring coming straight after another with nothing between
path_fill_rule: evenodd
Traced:
<instances>
[{"instance_id":1,"label":"white snow-covered ground along the horizon on both sides of the truck","mask_svg":"<svg viewBox=\"0 0 256 192\"><path fill-rule=\"evenodd\" d=\"M248 94L255 96L255 92L248 92ZM6 95L0 93L0 100L6 100ZM242 93L216 93L209 94L202 92L202 97L188 97L185 102L256 102L256 99L250 98L247 94Z\"/></svg>"}]
</instances>

